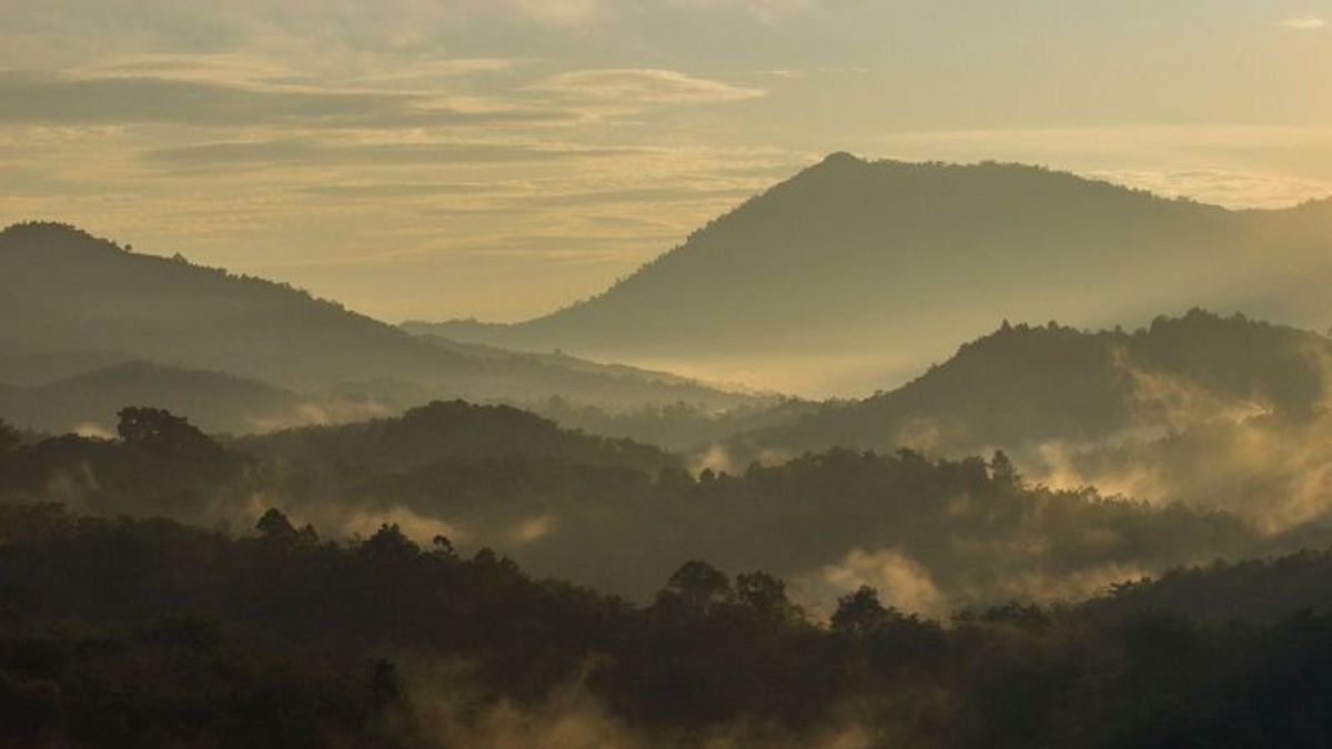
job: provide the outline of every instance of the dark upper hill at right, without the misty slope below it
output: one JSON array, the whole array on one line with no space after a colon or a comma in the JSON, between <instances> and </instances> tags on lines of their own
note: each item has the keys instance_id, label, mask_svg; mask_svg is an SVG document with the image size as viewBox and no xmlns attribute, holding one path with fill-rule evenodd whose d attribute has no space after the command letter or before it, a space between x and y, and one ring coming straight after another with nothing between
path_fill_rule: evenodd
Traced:
<instances>
[{"instance_id":1,"label":"dark upper hill at right, without the misty slope below it","mask_svg":"<svg viewBox=\"0 0 1332 749\"><path fill-rule=\"evenodd\" d=\"M891 392L751 433L750 445L931 452L1087 444L1217 418L1308 417L1325 402L1332 340L1193 309L1082 332L1004 324Z\"/></svg>"}]
</instances>

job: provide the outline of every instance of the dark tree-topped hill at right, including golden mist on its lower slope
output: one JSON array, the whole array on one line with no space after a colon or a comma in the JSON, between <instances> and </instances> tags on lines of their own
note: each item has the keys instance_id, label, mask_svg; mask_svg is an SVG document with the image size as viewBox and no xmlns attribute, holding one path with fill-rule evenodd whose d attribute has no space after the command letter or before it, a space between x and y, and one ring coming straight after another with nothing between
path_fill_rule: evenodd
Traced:
<instances>
[{"instance_id":1,"label":"dark tree-topped hill at right, including golden mist on its lower slope","mask_svg":"<svg viewBox=\"0 0 1332 749\"><path fill-rule=\"evenodd\" d=\"M714 446L743 465L830 445L1003 446L1032 481L1224 509L1267 533L1332 512L1332 341L1192 311L1150 327L1004 325L902 388Z\"/></svg>"}]
</instances>

